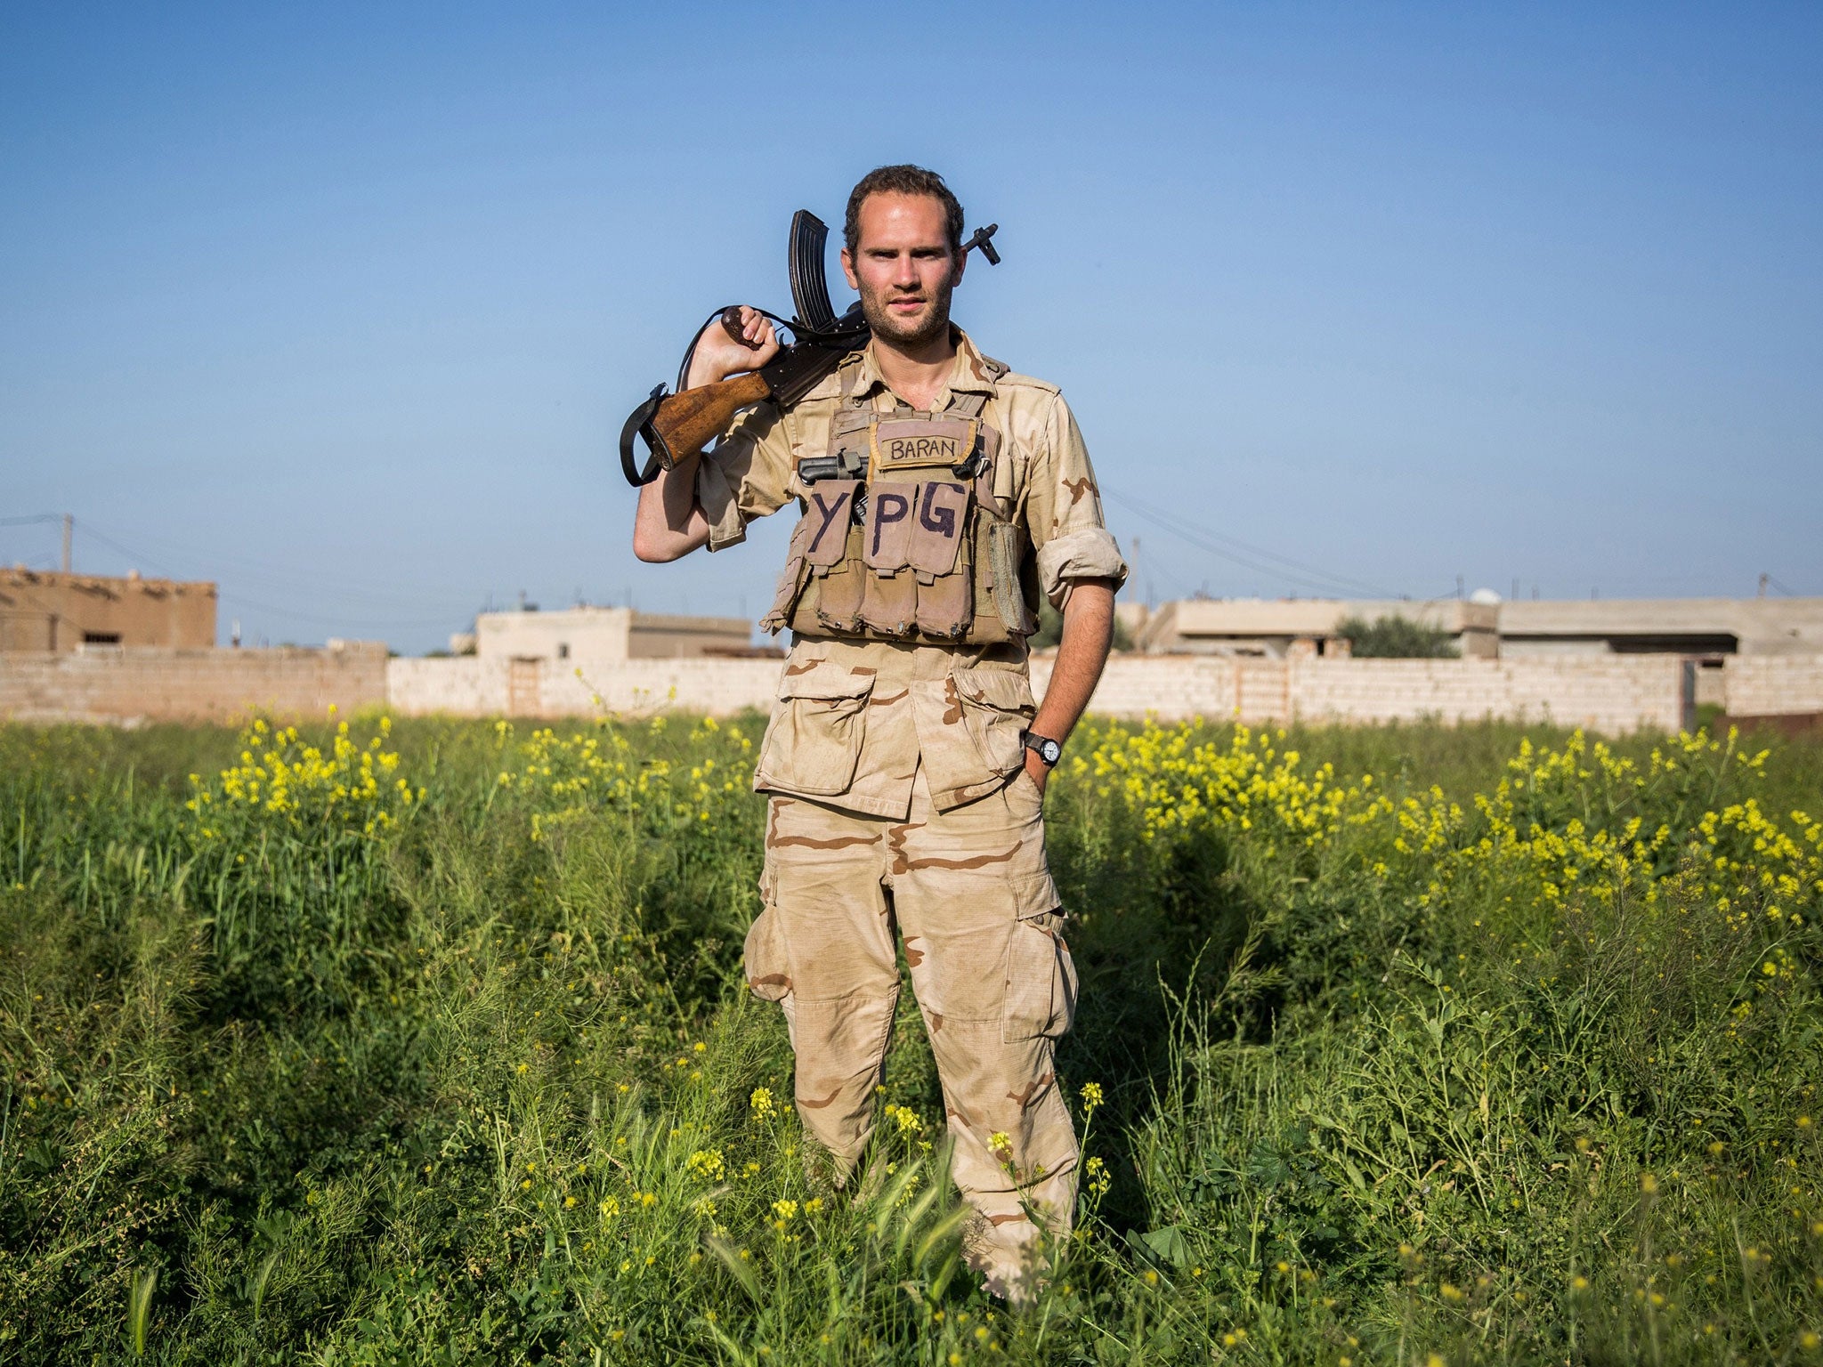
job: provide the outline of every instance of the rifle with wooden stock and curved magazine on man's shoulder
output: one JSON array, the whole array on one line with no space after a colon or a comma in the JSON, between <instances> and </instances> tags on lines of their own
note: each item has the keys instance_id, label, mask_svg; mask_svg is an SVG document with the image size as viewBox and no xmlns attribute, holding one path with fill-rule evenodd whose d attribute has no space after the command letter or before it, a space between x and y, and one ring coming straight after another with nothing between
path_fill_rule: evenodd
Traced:
<instances>
[{"instance_id":1,"label":"rifle with wooden stock and curved magazine on man's shoulder","mask_svg":"<svg viewBox=\"0 0 1823 1367\"><path fill-rule=\"evenodd\" d=\"M981 248L988 264L999 266L1001 253L990 241L999 231L997 222L977 228L973 237L963 244L963 255ZM873 335L860 304L855 303L840 317L829 303L829 281L824 273L824 242L829 230L809 210L791 215L791 242L788 248L788 270L791 277L791 303L797 315L782 319L777 313L764 313L773 323L791 330L791 344L780 346L778 355L758 370L685 390L689 363L696 354L696 341L691 339L684 352L684 365L678 366L676 394L667 394L658 385L645 401L627 416L620 428L620 468L627 483L638 488L658 478L660 470L669 470L680 457L702 450L742 408L773 399L780 408L789 408L802 399L817 383L840 365L842 357L868 344ZM704 328L716 317L724 323L738 310L738 304L718 308L704 321ZM696 330L702 334L702 328ZM633 441L645 441L647 459L644 468L634 463Z\"/></svg>"}]
</instances>

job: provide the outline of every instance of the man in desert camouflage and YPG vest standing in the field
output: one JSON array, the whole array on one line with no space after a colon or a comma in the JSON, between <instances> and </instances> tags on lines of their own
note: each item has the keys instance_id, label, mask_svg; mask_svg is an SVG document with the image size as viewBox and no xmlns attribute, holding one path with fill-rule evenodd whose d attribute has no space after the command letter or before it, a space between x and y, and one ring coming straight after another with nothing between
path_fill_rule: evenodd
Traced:
<instances>
[{"instance_id":1,"label":"man in desert camouflage and YPG vest standing in the field","mask_svg":"<svg viewBox=\"0 0 1823 1367\"><path fill-rule=\"evenodd\" d=\"M762 403L645 485L633 549L720 550L798 505L762 622L793 638L753 780L771 797L747 981L784 1006L798 1114L846 1177L873 1130L902 937L975 1208L968 1256L990 1290L1023 1300L1034 1218L1068 1232L1077 1167L1052 1063L1076 970L1043 793L1107 662L1127 565L1057 390L950 324L961 237L942 177L862 179L842 272L871 343L788 412ZM689 386L778 350L753 310L735 332L704 330ZM1039 592L1063 640L1035 707L1025 638Z\"/></svg>"}]
</instances>

